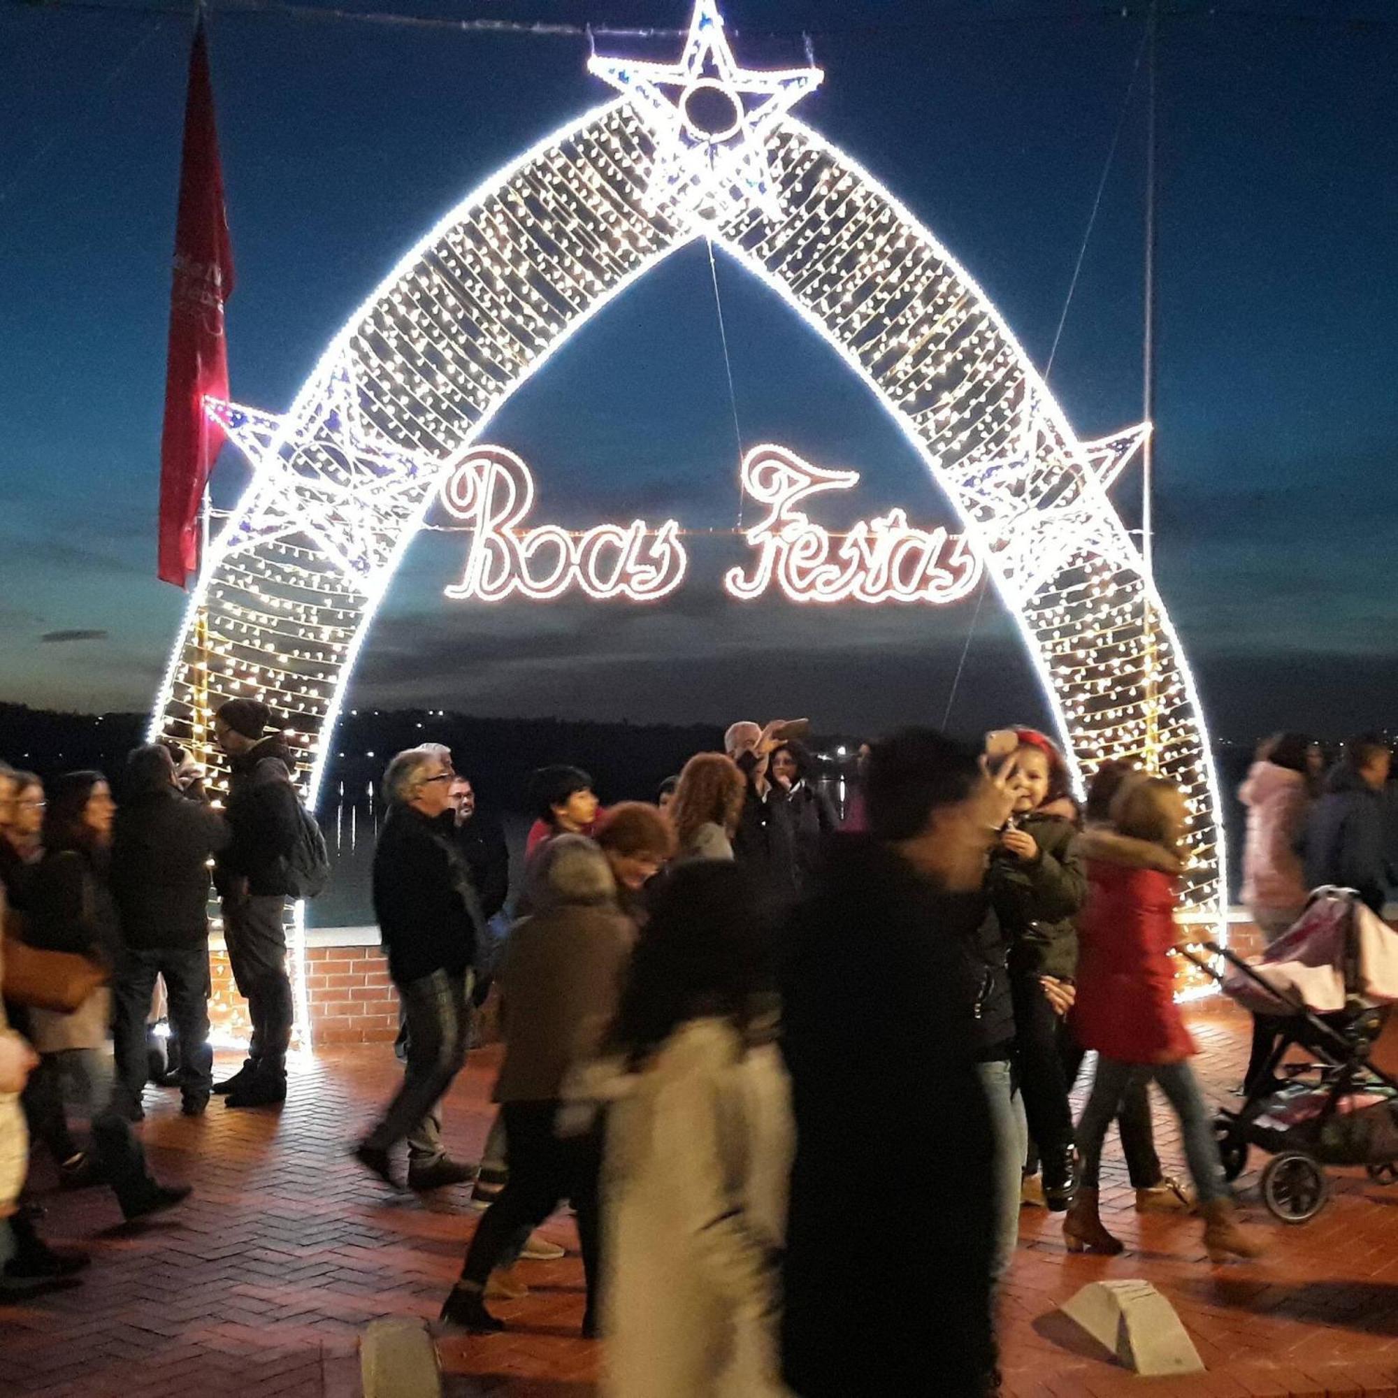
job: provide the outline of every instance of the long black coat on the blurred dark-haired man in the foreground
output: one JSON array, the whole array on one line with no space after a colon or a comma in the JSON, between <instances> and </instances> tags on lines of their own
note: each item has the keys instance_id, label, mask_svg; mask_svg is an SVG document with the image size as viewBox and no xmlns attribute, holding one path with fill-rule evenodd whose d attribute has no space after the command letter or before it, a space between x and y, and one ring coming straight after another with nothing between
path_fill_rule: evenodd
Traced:
<instances>
[{"instance_id":1,"label":"long black coat on the blurred dark-haired man in the foreground","mask_svg":"<svg viewBox=\"0 0 1398 1398\"><path fill-rule=\"evenodd\" d=\"M981 895L944 893L886 846L837 835L787 925L781 1350L802 1398L960 1398L994 1366L984 923Z\"/></svg>"}]
</instances>

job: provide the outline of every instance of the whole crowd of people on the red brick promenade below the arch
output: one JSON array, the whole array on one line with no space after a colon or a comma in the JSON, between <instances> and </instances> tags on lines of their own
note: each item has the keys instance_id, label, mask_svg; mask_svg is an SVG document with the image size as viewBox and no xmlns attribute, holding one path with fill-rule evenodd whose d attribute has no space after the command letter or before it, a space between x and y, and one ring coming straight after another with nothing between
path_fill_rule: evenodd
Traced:
<instances>
[{"instance_id":1,"label":"whole crowd of people on the red brick promenade below the arch","mask_svg":"<svg viewBox=\"0 0 1398 1398\"><path fill-rule=\"evenodd\" d=\"M534 1230L570 1206L583 1331L615 1398L993 1394L1022 1208L1062 1213L1071 1251L1123 1250L1097 1206L1113 1121L1139 1211L1197 1212L1213 1261L1262 1251L1174 1001L1179 787L1107 762L1079 808L1036 730L909 728L861 751L842 822L805 730L735 723L656 804L603 808L586 772L538 770L514 889L449 749L400 752L384 776L373 905L404 1074L354 1156L384 1187L461 1187L484 1209L442 1307L468 1331L503 1328L491 1303L524 1293L516 1264L556 1254ZM324 851L270 710L231 700L215 737L222 808L172 744L130 755L120 807L96 772L48 788L0 773L0 1303L75 1285L87 1262L39 1236L28 1139L64 1187L110 1188L140 1219L189 1192L154 1177L133 1130L152 1071L190 1116L214 1093L285 1100L285 925ZM1350 742L1324 777L1316 752L1279 735L1240 793L1244 898L1268 938L1318 885L1380 907L1392 877L1388 749ZM210 864L252 1019L217 1083ZM492 991L499 1114L477 1165L450 1158L440 1113ZM169 1039L152 1067L157 997ZM1258 1023L1250 1076L1274 1033ZM1151 1082L1192 1187L1162 1169Z\"/></svg>"}]
</instances>

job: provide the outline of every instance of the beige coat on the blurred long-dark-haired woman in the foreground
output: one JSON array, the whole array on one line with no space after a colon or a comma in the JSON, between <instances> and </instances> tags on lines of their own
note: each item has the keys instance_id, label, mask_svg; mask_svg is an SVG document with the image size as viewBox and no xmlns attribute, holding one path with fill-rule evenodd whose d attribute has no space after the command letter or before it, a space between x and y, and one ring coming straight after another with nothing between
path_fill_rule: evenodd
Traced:
<instances>
[{"instance_id":1,"label":"beige coat on the blurred long-dark-haired woman in the foreground","mask_svg":"<svg viewBox=\"0 0 1398 1398\"><path fill-rule=\"evenodd\" d=\"M665 1042L611 1106L607 1398L779 1398L777 1248L794 1145L776 1046L723 1019Z\"/></svg>"}]
</instances>

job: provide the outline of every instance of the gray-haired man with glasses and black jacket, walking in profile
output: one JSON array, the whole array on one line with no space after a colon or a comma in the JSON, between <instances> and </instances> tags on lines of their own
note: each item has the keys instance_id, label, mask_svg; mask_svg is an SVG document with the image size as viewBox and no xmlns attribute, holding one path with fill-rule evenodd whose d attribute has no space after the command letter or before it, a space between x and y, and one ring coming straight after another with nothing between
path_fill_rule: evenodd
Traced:
<instances>
[{"instance_id":1,"label":"gray-haired man with glasses and black jacket, walking in profile","mask_svg":"<svg viewBox=\"0 0 1398 1398\"><path fill-rule=\"evenodd\" d=\"M439 752L410 748L383 777L389 816L373 853L373 910L407 1018L407 1068L354 1153L393 1188L390 1152L400 1141L408 1142L411 1190L464 1184L475 1174L449 1159L438 1106L466 1062L471 966L484 924L466 860L440 828L452 776Z\"/></svg>"}]
</instances>

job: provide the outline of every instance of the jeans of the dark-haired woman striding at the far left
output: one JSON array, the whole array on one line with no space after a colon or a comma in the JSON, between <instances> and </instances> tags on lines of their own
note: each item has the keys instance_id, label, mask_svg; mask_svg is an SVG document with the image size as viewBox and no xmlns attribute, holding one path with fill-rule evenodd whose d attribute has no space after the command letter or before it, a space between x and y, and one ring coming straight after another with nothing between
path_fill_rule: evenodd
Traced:
<instances>
[{"instance_id":1,"label":"jeans of the dark-haired woman striding at the far left","mask_svg":"<svg viewBox=\"0 0 1398 1398\"><path fill-rule=\"evenodd\" d=\"M150 1001L147 1000L147 1004ZM24 1089L29 1134L42 1141L56 1165L78 1155L69 1130L66 1089L91 1124L91 1151L123 1208L137 1204L155 1181L130 1121L112 1110L112 1058L105 1048L63 1048L43 1054Z\"/></svg>"}]
</instances>

